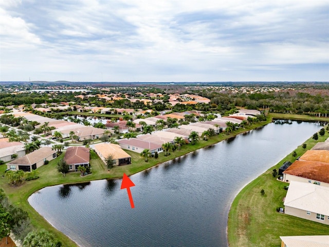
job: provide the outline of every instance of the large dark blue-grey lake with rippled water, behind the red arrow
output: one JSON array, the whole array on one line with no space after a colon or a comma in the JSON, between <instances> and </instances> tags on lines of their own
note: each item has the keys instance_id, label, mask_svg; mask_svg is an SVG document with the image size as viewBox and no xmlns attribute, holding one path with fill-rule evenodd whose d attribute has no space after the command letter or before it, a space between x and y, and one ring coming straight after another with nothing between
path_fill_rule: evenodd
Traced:
<instances>
[{"instance_id":1,"label":"large dark blue-grey lake with rippled water, behind the red arrow","mask_svg":"<svg viewBox=\"0 0 329 247\"><path fill-rule=\"evenodd\" d=\"M228 246L230 204L248 182L321 128L268 125L121 180L51 186L29 203L80 246Z\"/></svg>"}]
</instances>

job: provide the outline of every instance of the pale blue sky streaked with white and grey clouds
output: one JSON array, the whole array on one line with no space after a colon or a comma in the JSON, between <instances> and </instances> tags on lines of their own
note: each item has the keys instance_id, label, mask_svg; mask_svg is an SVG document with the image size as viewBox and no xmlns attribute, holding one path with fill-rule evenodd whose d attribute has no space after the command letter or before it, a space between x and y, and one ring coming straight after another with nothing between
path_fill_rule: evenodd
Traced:
<instances>
[{"instance_id":1,"label":"pale blue sky streaked with white and grey clouds","mask_svg":"<svg viewBox=\"0 0 329 247\"><path fill-rule=\"evenodd\" d=\"M0 81L329 81L328 0L0 0Z\"/></svg>"}]
</instances>

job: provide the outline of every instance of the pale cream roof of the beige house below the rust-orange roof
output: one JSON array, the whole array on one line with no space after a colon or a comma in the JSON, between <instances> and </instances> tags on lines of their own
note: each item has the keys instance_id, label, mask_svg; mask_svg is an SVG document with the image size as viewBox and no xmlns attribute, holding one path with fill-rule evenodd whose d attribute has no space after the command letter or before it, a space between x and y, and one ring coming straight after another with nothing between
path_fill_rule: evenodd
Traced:
<instances>
[{"instance_id":1,"label":"pale cream roof of the beige house below the rust-orange roof","mask_svg":"<svg viewBox=\"0 0 329 247\"><path fill-rule=\"evenodd\" d=\"M291 181L284 206L329 215L329 187Z\"/></svg>"}]
</instances>

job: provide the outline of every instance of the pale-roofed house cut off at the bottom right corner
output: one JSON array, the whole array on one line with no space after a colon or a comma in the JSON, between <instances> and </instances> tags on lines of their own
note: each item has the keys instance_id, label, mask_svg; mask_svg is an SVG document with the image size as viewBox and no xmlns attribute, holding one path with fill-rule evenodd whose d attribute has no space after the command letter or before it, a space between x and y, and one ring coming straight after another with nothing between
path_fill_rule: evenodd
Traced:
<instances>
[{"instance_id":1,"label":"pale-roofed house cut off at the bottom right corner","mask_svg":"<svg viewBox=\"0 0 329 247\"><path fill-rule=\"evenodd\" d=\"M329 235L284 236L281 247L329 247Z\"/></svg>"}]
</instances>

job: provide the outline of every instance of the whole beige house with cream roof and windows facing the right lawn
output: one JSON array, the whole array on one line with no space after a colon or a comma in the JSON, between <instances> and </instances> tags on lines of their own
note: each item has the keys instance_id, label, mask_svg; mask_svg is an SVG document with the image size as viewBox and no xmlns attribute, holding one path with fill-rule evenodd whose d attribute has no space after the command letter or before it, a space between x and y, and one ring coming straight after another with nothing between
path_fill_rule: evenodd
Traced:
<instances>
[{"instance_id":1,"label":"whole beige house with cream roof and windows facing the right lawn","mask_svg":"<svg viewBox=\"0 0 329 247\"><path fill-rule=\"evenodd\" d=\"M329 225L329 188L291 181L284 200L284 213Z\"/></svg>"}]
</instances>

